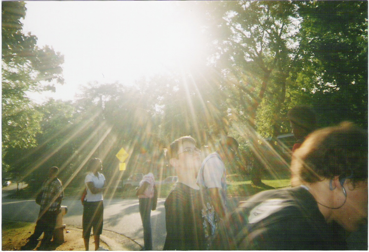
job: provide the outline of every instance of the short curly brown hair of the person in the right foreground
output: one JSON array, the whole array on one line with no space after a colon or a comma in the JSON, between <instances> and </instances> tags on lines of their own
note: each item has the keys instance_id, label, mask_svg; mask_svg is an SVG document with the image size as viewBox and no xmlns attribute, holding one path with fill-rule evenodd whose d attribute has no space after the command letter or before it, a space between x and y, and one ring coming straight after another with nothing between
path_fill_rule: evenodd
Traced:
<instances>
[{"instance_id":1,"label":"short curly brown hair of the person in the right foreground","mask_svg":"<svg viewBox=\"0 0 369 252\"><path fill-rule=\"evenodd\" d=\"M350 122L311 133L295 151L292 172L303 181L349 178L353 185L368 179L368 131Z\"/></svg>"}]
</instances>

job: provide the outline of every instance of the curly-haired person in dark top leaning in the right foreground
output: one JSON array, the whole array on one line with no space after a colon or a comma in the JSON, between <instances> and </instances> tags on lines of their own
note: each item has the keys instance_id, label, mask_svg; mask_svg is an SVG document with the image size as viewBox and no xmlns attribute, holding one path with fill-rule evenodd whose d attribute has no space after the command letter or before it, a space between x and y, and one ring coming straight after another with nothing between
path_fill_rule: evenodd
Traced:
<instances>
[{"instance_id":1,"label":"curly-haired person in dark top leaning in the right foreground","mask_svg":"<svg viewBox=\"0 0 369 252\"><path fill-rule=\"evenodd\" d=\"M300 186L252 196L210 249L347 249L341 228L368 224L368 132L352 123L317 130L293 153L291 169Z\"/></svg>"}]
</instances>

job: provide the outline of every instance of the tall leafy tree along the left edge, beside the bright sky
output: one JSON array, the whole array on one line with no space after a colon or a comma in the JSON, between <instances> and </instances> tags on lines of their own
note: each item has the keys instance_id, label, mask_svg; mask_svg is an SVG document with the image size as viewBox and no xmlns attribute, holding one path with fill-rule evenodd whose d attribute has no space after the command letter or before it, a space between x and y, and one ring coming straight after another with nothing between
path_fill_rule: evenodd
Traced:
<instances>
[{"instance_id":1,"label":"tall leafy tree along the left edge, beside the bright sky","mask_svg":"<svg viewBox=\"0 0 369 252\"><path fill-rule=\"evenodd\" d=\"M23 34L26 10L21 1L1 2L3 154L8 147L36 145L42 115L25 92L54 90L53 80L63 83L63 56L49 46L38 48L35 35Z\"/></svg>"}]
</instances>

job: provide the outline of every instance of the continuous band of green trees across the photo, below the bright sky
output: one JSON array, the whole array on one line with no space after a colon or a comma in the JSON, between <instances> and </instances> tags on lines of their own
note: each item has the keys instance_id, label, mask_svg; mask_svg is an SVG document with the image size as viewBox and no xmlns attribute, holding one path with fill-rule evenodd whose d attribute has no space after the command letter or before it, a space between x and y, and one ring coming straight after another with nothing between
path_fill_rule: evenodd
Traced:
<instances>
[{"instance_id":1,"label":"continuous band of green trees across the photo, below the bright sky","mask_svg":"<svg viewBox=\"0 0 369 252\"><path fill-rule=\"evenodd\" d=\"M24 2L3 1L3 170L31 181L56 165L68 185L99 157L114 186L147 158L171 175L163 148L180 136L207 153L231 135L241 143L240 172L255 158L286 166L264 138L290 132L295 105L312 106L321 127L368 126L366 1L196 1L192 10L208 39L195 66L134 85L88 83L75 101L34 104L26 91L62 83L63 56L21 32ZM126 172L117 169L121 147Z\"/></svg>"}]
</instances>

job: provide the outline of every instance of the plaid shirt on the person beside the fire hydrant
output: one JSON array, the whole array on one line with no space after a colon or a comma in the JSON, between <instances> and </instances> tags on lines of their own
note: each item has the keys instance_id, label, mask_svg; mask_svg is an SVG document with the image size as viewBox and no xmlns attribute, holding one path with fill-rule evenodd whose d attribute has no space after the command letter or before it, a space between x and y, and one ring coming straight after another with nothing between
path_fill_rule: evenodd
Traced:
<instances>
[{"instance_id":1,"label":"plaid shirt on the person beside the fire hydrant","mask_svg":"<svg viewBox=\"0 0 369 252\"><path fill-rule=\"evenodd\" d=\"M62 182L58 178L47 179L42 185L40 211L58 211L64 196Z\"/></svg>"}]
</instances>

